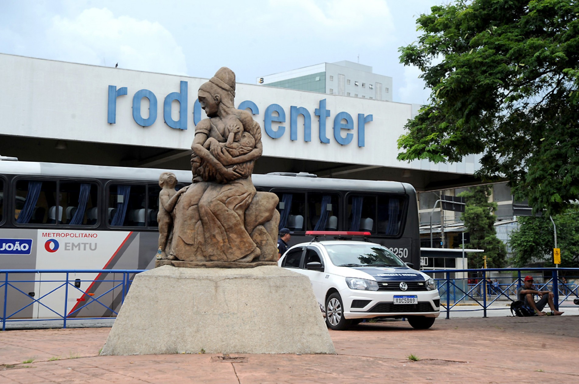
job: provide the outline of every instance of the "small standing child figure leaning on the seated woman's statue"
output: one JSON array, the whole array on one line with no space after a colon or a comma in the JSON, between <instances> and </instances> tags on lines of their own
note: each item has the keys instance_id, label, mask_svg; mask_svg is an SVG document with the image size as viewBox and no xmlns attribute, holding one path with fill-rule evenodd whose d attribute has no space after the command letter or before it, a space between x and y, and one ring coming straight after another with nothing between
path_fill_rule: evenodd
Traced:
<instances>
[{"instance_id":1,"label":"small standing child figure leaning on the seated woman's statue","mask_svg":"<svg viewBox=\"0 0 579 384\"><path fill-rule=\"evenodd\" d=\"M170 242L173 236L173 209L179 200L179 196L187 190L187 187L175 191L177 185L177 176L171 172L163 172L159 177L159 212L157 213L157 223L159 223L159 251L157 251L157 259L174 259L174 256L169 255L165 249L167 243Z\"/></svg>"}]
</instances>

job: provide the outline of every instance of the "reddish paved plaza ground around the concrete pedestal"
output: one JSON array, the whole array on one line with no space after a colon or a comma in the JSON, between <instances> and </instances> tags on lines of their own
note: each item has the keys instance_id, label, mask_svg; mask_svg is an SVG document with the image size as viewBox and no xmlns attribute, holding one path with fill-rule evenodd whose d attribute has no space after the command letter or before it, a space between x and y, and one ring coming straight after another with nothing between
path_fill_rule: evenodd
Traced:
<instances>
[{"instance_id":1,"label":"reddish paved plaza ground around the concrete pedestal","mask_svg":"<svg viewBox=\"0 0 579 384\"><path fill-rule=\"evenodd\" d=\"M439 318L422 331L401 321L367 323L330 332L338 355L232 355L230 361L201 354L98 356L108 333L0 332L0 383L579 381L577 315ZM411 354L420 360L410 361Z\"/></svg>"}]
</instances>

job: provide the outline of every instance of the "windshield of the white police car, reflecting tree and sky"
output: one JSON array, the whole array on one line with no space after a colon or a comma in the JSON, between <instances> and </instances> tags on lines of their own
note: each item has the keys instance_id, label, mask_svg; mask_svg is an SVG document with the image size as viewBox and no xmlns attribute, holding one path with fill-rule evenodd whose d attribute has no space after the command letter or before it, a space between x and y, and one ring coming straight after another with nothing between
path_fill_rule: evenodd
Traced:
<instances>
[{"instance_id":1,"label":"windshield of the white police car, reflecting tree and sky","mask_svg":"<svg viewBox=\"0 0 579 384\"><path fill-rule=\"evenodd\" d=\"M356 244L327 244L325 248L329 259L335 266L406 266L398 256L379 244L362 242Z\"/></svg>"}]
</instances>

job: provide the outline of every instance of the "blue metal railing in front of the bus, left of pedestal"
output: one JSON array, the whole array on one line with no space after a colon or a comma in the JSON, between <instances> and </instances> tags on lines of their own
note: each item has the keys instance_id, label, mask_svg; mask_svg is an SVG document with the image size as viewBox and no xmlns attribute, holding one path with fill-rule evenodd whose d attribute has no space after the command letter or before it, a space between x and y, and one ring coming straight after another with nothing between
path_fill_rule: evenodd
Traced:
<instances>
[{"instance_id":1,"label":"blue metal railing in front of the bus, left of pedestal","mask_svg":"<svg viewBox=\"0 0 579 384\"><path fill-rule=\"evenodd\" d=\"M69 320L115 317L134 275L142 271L145 270L0 270L2 330L6 330L7 322L62 320L66 328ZM82 274L97 276L76 278ZM90 285L83 290L80 288L83 284ZM70 297L72 300L77 297L75 305L68 304ZM40 309L44 312L42 316L38 315ZM80 314L82 310L84 314Z\"/></svg>"}]
</instances>

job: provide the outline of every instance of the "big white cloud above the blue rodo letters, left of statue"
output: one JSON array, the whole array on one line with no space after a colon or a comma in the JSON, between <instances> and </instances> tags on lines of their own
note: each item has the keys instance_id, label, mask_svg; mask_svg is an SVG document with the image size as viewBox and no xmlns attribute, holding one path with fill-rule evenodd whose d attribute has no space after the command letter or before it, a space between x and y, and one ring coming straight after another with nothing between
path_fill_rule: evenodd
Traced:
<instances>
[{"instance_id":1,"label":"big white cloud above the blue rodo letters, left of statue","mask_svg":"<svg viewBox=\"0 0 579 384\"><path fill-rule=\"evenodd\" d=\"M115 17L107 8L83 10L77 17L52 18L46 31L54 58L84 64L186 74L181 46L163 25Z\"/></svg>"}]
</instances>

